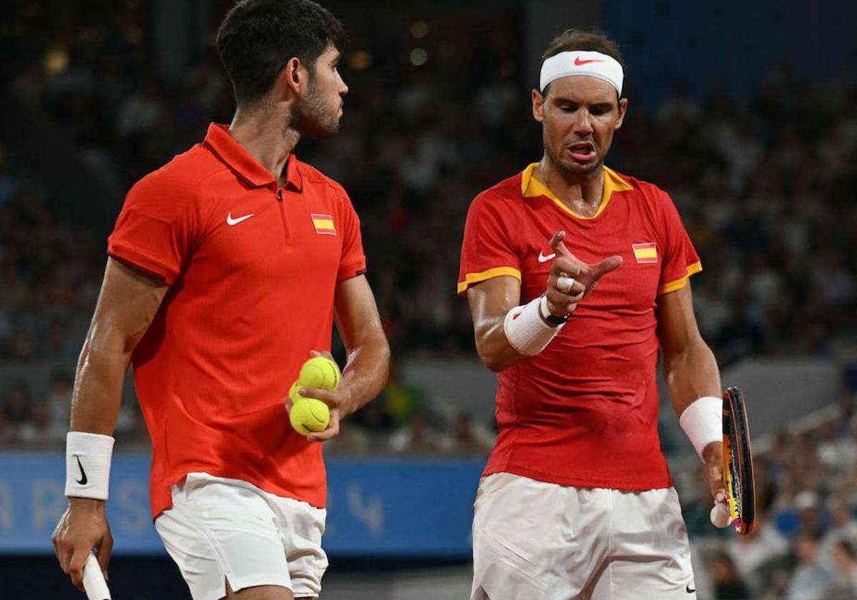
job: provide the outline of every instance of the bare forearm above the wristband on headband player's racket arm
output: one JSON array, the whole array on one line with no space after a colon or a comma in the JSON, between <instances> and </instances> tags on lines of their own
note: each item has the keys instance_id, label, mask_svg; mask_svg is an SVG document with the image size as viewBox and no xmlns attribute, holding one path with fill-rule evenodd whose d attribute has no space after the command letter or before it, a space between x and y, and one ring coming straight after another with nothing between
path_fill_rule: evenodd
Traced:
<instances>
[{"instance_id":1,"label":"bare forearm above the wristband on headband player's racket arm","mask_svg":"<svg viewBox=\"0 0 857 600\"><path fill-rule=\"evenodd\" d=\"M714 353L702 339L686 345L683 351L666 355L663 375L675 414L703 396L720 396L720 371Z\"/></svg>"}]
</instances>

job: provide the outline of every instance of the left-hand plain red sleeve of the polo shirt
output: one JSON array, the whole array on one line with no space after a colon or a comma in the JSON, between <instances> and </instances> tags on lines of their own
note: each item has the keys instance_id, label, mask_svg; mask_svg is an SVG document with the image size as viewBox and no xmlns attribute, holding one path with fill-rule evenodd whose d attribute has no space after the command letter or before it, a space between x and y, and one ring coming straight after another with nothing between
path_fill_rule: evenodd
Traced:
<instances>
[{"instance_id":1,"label":"left-hand plain red sleeve of the polo shirt","mask_svg":"<svg viewBox=\"0 0 857 600\"><path fill-rule=\"evenodd\" d=\"M172 285L195 239L196 195L163 171L143 177L125 197L107 254Z\"/></svg>"}]
</instances>

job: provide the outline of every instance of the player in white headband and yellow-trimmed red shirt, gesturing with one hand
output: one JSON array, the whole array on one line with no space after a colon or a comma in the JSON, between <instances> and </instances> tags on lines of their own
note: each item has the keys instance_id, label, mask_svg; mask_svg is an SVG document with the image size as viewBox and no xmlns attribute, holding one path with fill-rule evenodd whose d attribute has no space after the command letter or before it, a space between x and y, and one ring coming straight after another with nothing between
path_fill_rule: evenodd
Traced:
<instances>
[{"instance_id":1,"label":"player in white headband and yellow-trimmed red shirt, gesturing with one hand","mask_svg":"<svg viewBox=\"0 0 857 600\"><path fill-rule=\"evenodd\" d=\"M470 205L458 293L498 373L500 429L476 495L471 600L695 597L657 434L656 363L722 490L722 400L669 196L604 165L626 115L613 41L566 31L532 111L544 155Z\"/></svg>"}]
</instances>

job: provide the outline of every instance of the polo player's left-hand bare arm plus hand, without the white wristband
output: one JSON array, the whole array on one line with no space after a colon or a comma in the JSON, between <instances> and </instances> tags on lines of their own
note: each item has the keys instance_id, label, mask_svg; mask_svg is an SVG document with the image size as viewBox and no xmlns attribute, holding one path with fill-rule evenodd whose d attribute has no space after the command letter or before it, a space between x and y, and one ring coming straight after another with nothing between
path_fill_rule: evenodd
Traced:
<instances>
[{"instance_id":1,"label":"polo player's left-hand bare arm plus hand, without the white wristband","mask_svg":"<svg viewBox=\"0 0 857 600\"><path fill-rule=\"evenodd\" d=\"M99 302L77 363L72 431L112 435L131 352L146 333L166 291L165 284L119 261L107 260ZM92 549L99 549L103 571L110 561L113 538L105 516L105 501L69 498L69 507L52 541L63 572L82 590L83 566Z\"/></svg>"}]
</instances>

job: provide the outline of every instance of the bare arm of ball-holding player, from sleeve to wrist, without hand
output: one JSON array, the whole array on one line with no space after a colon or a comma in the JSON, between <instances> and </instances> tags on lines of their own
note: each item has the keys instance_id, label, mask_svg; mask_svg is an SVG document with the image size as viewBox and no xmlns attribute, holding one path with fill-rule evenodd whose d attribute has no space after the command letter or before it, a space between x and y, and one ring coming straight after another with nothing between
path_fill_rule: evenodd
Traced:
<instances>
[{"instance_id":1,"label":"bare arm of ball-holding player, from sleeve to wrist, without hand","mask_svg":"<svg viewBox=\"0 0 857 600\"><path fill-rule=\"evenodd\" d=\"M345 416L369 404L387 383L390 346L365 275L337 285L334 302L336 327L348 352L340 383L347 391L340 405Z\"/></svg>"}]
</instances>

